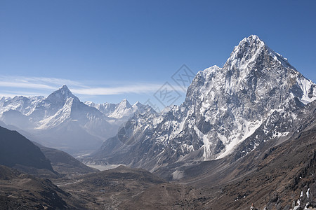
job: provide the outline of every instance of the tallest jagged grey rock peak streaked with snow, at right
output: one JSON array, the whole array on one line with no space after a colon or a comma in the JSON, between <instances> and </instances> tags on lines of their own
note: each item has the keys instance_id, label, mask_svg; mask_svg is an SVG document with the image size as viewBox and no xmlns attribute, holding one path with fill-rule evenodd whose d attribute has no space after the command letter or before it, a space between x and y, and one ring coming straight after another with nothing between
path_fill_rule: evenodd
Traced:
<instances>
[{"instance_id":1,"label":"tallest jagged grey rock peak streaked with snow, at right","mask_svg":"<svg viewBox=\"0 0 316 210\"><path fill-rule=\"evenodd\" d=\"M289 122L296 118L287 111L316 99L315 88L287 59L252 35L235 47L222 68L199 71L181 106L160 115L136 114L90 161L154 171L174 162L223 158L263 123L265 128L275 126L276 113L285 113ZM271 134L266 140L286 134ZM239 151L239 158L246 153Z\"/></svg>"}]
</instances>

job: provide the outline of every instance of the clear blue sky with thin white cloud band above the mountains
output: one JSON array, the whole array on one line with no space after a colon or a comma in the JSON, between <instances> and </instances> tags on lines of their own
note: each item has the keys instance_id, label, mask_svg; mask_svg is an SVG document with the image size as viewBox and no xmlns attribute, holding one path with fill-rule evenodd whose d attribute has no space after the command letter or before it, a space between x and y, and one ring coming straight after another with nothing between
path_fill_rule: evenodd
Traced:
<instances>
[{"instance_id":1,"label":"clear blue sky with thin white cloud band above the mountains","mask_svg":"<svg viewBox=\"0 0 316 210\"><path fill-rule=\"evenodd\" d=\"M316 82L316 1L0 1L0 95L154 101L186 64L223 66L251 34ZM154 102L159 104L159 102ZM159 105L161 106L161 105Z\"/></svg>"}]
</instances>

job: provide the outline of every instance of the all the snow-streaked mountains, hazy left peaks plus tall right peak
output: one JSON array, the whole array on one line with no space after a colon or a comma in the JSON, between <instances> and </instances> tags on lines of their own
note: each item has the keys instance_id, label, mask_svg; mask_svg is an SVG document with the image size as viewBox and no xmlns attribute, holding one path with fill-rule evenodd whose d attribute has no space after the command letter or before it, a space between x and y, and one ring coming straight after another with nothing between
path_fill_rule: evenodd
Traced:
<instances>
[{"instance_id":1,"label":"all the snow-streaked mountains, hazy left peaks plus tall right peak","mask_svg":"<svg viewBox=\"0 0 316 210\"><path fill-rule=\"evenodd\" d=\"M83 103L63 85L48 97L1 97L0 120L33 141L72 154L99 148L86 162L154 171L232 153L242 158L262 141L287 137L300 117L295 111L314 99L315 83L251 35L222 68L199 71L185 102L169 111L156 113L126 99Z\"/></svg>"}]
</instances>

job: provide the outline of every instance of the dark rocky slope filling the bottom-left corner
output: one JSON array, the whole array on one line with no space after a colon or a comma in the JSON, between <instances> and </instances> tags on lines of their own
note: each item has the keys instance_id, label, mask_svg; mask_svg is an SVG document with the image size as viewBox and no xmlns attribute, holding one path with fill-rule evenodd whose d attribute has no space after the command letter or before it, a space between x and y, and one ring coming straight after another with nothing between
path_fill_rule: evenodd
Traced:
<instances>
[{"instance_id":1,"label":"dark rocky slope filling the bottom-left corner","mask_svg":"<svg viewBox=\"0 0 316 210\"><path fill-rule=\"evenodd\" d=\"M0 165L1 209L84 209L72 195L48 179L21 174Z\"/></svg>"}]
</instances>

